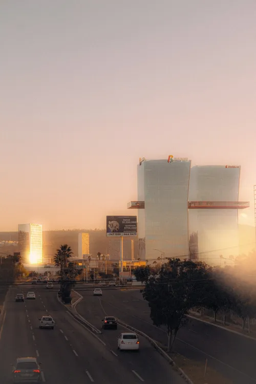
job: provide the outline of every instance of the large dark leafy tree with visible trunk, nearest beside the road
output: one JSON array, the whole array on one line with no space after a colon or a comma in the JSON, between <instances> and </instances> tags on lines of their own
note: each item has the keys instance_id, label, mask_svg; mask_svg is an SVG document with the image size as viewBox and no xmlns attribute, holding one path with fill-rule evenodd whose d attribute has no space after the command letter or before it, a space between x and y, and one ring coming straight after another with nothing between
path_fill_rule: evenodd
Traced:
<instances>
[{"instance_id":1,"label":"large dark leafy tree with visible trunk, nearest beside the road","mask_svg":"<svg viewBox=\"0 0 256 384\"><path fill-rule=\"evenodd\" d=\"M208 266L191 260L169 259L166 267L146 282L143 297L151 309L154 325L167 327L167 351L172 350L188 310L197 307L204 295Z\"/></svg>"}]
</instances>

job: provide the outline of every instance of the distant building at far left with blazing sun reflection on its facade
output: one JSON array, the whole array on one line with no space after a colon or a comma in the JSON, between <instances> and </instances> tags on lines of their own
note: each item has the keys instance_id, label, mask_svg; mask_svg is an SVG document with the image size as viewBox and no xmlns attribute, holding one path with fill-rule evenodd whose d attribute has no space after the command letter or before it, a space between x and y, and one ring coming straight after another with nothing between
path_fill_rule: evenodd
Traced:
<instances>
[{"instance_id":1,"label":"distant building at far left with blazing sun reflection on its facade","mask_svg":"<svg viewBox=\"0 0 256 384\"><path fill-rule=\"evenodd\" d=\"M42 225L18 224L18 244L24 264L42 262Z\"/></svg>"}]
</instances>

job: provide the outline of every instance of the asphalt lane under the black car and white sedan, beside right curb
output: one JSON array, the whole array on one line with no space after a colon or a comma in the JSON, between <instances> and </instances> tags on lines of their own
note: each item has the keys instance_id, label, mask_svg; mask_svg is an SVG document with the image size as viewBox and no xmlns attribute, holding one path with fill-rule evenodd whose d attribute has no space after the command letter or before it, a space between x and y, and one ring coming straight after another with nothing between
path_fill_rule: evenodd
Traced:
<instances>
[{"instance_id":1,"label":"asphalt lane under the black car and white sedan, beside right curb","mask_svg":"<svg viewBox=\"0 0 256 384\"><path fill-rule=\"evenodd\" d=\"M81 301L77 305L77 311L86 318L96 328L102 327L104 316L111 316L113 313L107 312L101 305L101 298L88 295L86 301ZM88 314L90 313L90 316ZM89 318L88 318L89 317ZM136 371L140 377L148 383L162 382L167 384L172 380L174 384L184 384L184 380L173 370L168 362L152 347L152 345L142 336L139 336L140 350L136 351L118 351L117 336L121 332L131 332L130 329L118 325L117 330L101 329L102 339L108 348L114 351L122 361L122 365ZM151 364L148 364L148 362ZM157 367L157 369L156 369Z\"/></svg>"}]
</instances>

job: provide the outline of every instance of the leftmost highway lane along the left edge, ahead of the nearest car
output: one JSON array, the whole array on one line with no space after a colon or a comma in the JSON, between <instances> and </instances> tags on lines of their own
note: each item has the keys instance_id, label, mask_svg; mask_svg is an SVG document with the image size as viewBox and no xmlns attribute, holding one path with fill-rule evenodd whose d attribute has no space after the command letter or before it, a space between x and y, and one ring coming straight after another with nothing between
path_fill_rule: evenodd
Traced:
<instances>
[{"instance_id":1,"label":"leftmost highway lane along the left edge, ahead of the nearest car","mask_svg":"<svg viewBox=\"0 0 256 384\"><path fill-rule=\"evenodd\" d=\"M0 339L0 382L12 382L12 365L17 357L36 357L25 303L15 303L15 294L6 296L6 315Z\"/></svg>"}]
</instances>

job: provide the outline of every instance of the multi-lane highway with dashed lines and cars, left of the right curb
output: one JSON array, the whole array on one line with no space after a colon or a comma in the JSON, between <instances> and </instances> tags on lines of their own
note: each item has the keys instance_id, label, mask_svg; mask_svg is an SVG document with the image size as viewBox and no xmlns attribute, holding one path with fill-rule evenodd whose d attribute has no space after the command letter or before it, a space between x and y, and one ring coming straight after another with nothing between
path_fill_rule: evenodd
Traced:
<instances>
[{"instance_id":1,"label":"multi-lane highway with dashed lines and cars, left of the right curb","mask_svg":"<svg viewBox=\"0 0 256 384\"><path fill-rule=\"evenodd\" d=\"M42 378L48 384L184 384L144 338L140 338L139 353L119 352L116 337L126 331L119 327L117 331L103 331L102 344L57 301L57 290L57 286L47 290L29 284L9 288L0 330L1 383L12 382L11 365L17 357L32 356L41 362ZM35 292L36 300L26 300L28 291ZM15 303L16 293L24 293L25 303ZM38 318L44 314L53 316L54 330L39 329Z\"/></svg>"}]
</instances>

